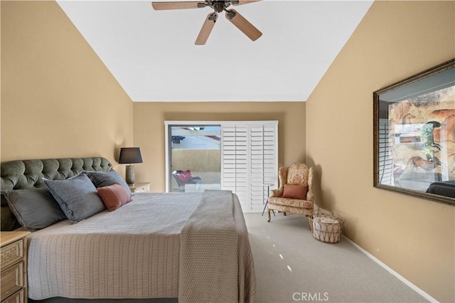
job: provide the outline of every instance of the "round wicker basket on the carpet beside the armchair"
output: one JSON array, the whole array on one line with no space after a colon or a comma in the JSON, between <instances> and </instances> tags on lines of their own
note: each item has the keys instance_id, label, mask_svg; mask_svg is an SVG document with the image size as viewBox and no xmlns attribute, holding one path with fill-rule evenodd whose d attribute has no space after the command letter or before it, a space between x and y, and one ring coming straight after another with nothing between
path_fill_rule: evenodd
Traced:
<instances>
[{"instance_id":1,"label":"round wicker basket on the carpet beside the armchair","mask_svg":"<svg viewBox=\"0 0 455 303\"><path fill-rule=\"evenodd\" d=\"M340 242L344 228L344 220L342 218L318 213L309 216L309 225L316 240L326 243Z\"/></svg>"}]
</instances>

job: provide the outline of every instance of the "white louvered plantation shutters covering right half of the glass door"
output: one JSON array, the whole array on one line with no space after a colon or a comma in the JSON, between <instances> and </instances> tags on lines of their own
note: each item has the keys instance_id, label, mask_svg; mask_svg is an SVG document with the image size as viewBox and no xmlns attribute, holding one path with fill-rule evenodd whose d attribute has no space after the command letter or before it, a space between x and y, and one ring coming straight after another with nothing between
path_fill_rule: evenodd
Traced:
<instances>
[{"instance_id":1,"label":"white louvered plantation shutters covering right half of the glass door","mask_svg":"<svg viewBox=\"0 0 455 303\"><path fill-rule=\"evenodd\" d=\"M240 123L221 125L221 183L237 194L244 212L260 212L268 196L264 184L278 186L278 123Z\"/></svg>"}]
</instances>

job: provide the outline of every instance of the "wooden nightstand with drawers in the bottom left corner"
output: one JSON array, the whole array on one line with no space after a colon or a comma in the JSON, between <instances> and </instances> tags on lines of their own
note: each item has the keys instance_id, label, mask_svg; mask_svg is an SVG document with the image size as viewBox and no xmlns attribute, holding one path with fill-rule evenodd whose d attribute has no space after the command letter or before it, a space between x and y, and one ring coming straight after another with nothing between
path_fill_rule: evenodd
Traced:
<instances>
[{"instance_id":1,"label":"wooden nightstand with drawers in the bottom left corner","mask_svg":"<svg viewBox=\"0 0 455 303\"><path fill-rule=\"evenodd\" d=\"M28 231L2 231L1 242L1 302L25 303L27 293Z\"/></svg>"}]
</instances>

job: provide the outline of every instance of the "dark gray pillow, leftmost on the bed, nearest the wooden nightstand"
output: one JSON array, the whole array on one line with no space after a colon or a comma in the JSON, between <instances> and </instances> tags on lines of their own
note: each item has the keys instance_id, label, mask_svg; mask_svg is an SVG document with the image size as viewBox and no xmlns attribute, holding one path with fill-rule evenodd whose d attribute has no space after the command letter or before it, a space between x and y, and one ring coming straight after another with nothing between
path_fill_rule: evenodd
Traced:
<instances>
[{"instance_id":1,"label":"dark gray pillow, leftmost on the bed, nearest the wooden nightstand","mask_svg":"<svg viewBox=\"0 0 455 303\"><path fill-rule=\"evenodd\" d=\"M40 230L66 219L48 188L19 189L4 193L4 196L18 222L28 231Z\"/></svg>"}]
</instances>

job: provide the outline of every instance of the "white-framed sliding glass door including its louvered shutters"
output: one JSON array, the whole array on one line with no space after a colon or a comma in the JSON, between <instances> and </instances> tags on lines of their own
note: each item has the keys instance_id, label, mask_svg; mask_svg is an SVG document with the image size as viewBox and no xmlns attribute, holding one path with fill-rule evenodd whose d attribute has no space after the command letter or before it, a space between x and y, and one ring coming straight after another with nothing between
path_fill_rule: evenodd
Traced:
<instances>
[{"instance_id":1,"label":"white-framed sliding glass door including its louvered shutters","mask_svg":"<svg viewBox=\"0 0 455 303\"><path fill-rule=\"evenodd\" d=\"M278 187L277 121L166 121L166 191L226 189L245 213Z\"/></svg>"}]
</instances>

